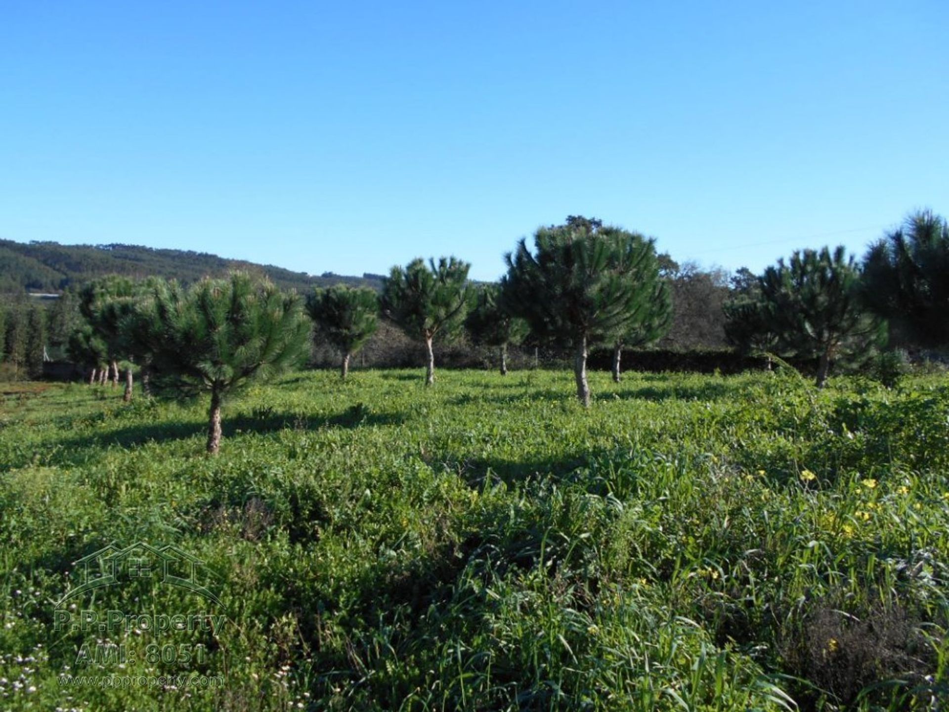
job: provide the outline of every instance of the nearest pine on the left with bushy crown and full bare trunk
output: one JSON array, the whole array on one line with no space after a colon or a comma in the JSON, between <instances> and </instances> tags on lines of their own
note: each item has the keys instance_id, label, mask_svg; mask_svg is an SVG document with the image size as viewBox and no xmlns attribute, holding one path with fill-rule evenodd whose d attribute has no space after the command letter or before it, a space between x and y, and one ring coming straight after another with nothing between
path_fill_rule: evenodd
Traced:
<instances>
[{"instance_id":1,"label":"nearest pine on the left with bushy crown and full bare trunk","mask_svg":"<svg viewBox=\"0 0 949 712\"><path fill-rule=\"evenodd\" d=\"M204 279L188 290L177 283L155 290L153 332L159 384L178 393L209 393L207 450L221 444L221 407L228 395L301 360L309 320L295 293L245 273Z\"/></svg>"}]
</instances>

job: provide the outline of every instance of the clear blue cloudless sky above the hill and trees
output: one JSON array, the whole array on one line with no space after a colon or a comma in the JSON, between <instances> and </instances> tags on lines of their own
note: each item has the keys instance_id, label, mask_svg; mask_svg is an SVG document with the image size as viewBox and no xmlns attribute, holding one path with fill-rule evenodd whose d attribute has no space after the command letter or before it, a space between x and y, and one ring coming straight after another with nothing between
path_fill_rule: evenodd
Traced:
<instances>
[{"instance_id":1,"label":"clear blue cloudless sky above the hill and trees","mask_svg":"<svg viewBox=\"0 0 949 712\"><path fill-rule=\"evenodd\" d=\"M0 5L0 237L319 274L568 214L755 271L949 213L949 3Z\"/></svg>"}]
</instances>

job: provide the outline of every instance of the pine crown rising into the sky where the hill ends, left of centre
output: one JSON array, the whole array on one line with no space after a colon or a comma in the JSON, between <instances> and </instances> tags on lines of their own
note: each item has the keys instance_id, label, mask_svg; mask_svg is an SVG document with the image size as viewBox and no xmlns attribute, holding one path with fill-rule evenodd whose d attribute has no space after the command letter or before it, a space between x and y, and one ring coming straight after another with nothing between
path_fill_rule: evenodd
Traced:
<instances>
[{"instance_id":1,"label":"pine crown rising into the sky where the hill ends, left of centre","mask_svg":"<svg viewBox=\"0 0 949 712\"><path fill-rule=\"evenodd\" d=\"M382 313L410 338L456 338L468 312L470 268L455 257L394 266L382 287Z\"/></svg>"}]
</instances>

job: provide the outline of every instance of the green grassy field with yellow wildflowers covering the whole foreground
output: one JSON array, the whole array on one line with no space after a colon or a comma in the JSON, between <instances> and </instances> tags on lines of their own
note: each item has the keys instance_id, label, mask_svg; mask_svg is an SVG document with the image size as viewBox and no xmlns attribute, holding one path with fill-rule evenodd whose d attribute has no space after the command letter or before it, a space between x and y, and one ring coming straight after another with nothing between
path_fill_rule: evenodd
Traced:
<instances>
[{"instance_id":1,"label":"green grassy field with yellow wildflowers covering the whole foreground","mask_svg":"<svg viewBox=\"0 0 949 712\"><path fill-rule=\"evenodd\" d=\"M294 374L226 406L217 458L204 402L3 390L0 709L949 700L944 376L591 380L583 411L567 373ZM110 542L174 544L216 600L58 604Z\"/></svg>"}]
</instances>

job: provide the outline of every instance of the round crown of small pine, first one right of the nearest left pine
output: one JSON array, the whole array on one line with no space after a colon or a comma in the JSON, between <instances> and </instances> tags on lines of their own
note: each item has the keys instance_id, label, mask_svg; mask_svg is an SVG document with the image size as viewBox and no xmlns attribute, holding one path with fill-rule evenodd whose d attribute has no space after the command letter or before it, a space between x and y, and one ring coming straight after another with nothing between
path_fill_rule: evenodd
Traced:
<instances>
[{"instance_id":1,"label":"round crown of small pine, first one right of the nearest left pine","mask_svg":"<svg viewBox=\"0 0 949 712\"><path fill-rule=\"evenodd\" d=\"M344 355L356 354L379 328L379 297L367 287L317 288L307 297L307 312L316 325L315 336Z\"/></svg>"}]
</instances>

